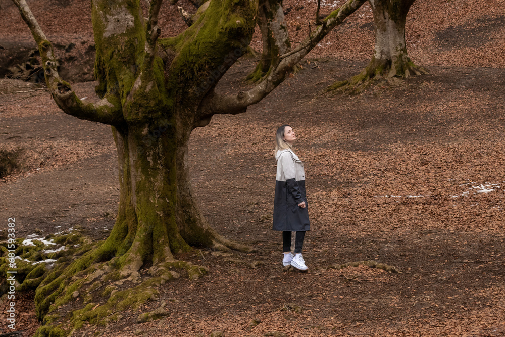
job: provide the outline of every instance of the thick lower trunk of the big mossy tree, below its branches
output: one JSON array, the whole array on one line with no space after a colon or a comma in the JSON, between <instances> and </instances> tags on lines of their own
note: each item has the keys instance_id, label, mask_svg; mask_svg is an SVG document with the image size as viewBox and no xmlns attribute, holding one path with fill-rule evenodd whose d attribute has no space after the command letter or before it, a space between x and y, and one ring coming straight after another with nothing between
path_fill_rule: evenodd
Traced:
<instances>
[{"instance_id":1,"label":"thick lower trunk of the big mossy tree, below its branches","mask_svg":"<svg viewBox=\"0 0 505 337\"><path fill-rule=\"evenodd\" d=\"M125 275L142 265L173 261L171 251L189 249L175 218L176 141L171 124L167 119L161 126L113 128L121 194L116 224L100 250L104 260L121 256Z\"/></svg>"}]
</instances>

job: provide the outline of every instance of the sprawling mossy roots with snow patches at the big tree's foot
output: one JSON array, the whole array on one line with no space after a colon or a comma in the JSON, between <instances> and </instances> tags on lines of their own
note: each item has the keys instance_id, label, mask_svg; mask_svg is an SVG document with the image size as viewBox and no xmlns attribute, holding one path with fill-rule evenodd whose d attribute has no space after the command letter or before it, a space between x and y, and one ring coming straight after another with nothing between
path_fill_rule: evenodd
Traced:
<instances>
[{"instance_id":1,"label":"sprawling mossy roots with snow patches at the big tree's foot","mask_svg":"<svg viewBox=\"0 0 505 337\"><path fill-rule=\"evenodd\" d=\"M22 246L22 239L17 239L15 253L20 257L15 259L17 290L36 289L35 311L43 322L35 334L39 337L64 337L85 323L106 325L118 319L117 311L137 309L148 301L158 300L157 287L179 278L181 272L192 280L208 272L207 268L191 262L167 258L151 266L144 274L140 270L142 261L135 254L127 253L110 261L97 262L102 243L91 244L80 233L65 233L45 239L64 245L66 249L48 250L40 240L34 240L35 246ZM7 244L3 242L0 245L3 252L0 272L4 275L9 258ZM233 246L232 243L230 246ZM54 265L36 263L44 260L56 262ZM4 280L4 286L5 283ZM61 316L59 308L70 302L77 303L82 309L73 311L69 317ZM164 314L165 311L153 312L152 317L142 319Z\"/></svg>"}]
</instances>

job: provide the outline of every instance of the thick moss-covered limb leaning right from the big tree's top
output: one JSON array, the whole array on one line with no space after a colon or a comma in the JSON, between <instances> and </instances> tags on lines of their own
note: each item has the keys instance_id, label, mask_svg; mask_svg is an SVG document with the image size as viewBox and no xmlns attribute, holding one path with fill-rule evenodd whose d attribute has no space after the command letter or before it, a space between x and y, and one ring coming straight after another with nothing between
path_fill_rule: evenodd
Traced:
<instances>
[{"instance_id":1,"label":"thick moss-covered limb leaning right from the big tree's top","mask_svg":"<svg viewBox=\"0 0 505 337\"><path fill-rule=\"evenodd\" d=\"M245 53L257 12L258 3L251 0L207 1L183 33L159 40L159 45L174 55L166 69L166 82L177 88L176 95L185 107L197 110L201 100ZM198 123L199 116L184 118L193 124Z\"/></svg>"}]
</instances>

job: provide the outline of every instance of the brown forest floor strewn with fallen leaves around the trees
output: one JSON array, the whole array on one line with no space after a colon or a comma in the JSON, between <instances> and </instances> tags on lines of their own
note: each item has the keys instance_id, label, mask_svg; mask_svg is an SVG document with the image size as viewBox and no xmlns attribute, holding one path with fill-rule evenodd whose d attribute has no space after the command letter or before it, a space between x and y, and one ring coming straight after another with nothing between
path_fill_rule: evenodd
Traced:
<instances>
[{"instance_id":1,"label":"brown forest floor strewn with fallen leaves around the trees","mask_svg":"<svg viewBox=\"0 0 505 337\"><path fill-rule=\"evenodd\" d=\"M369 58L369 45L362 50L362 42L341 37L341 49L318 52L331 58L304 61L304 70L247 113L218 115L196 129L190 158L201 208L220 233L254 252L178 256L208 267L209 274L169 282L158 301L122 313L107 327L86 326L79 335L505 335L505 70L499 68L505 62L502 54L483 52L503 43L497 24L503 14L492 6L476 11L477 2L458 3L462 8L440 2L441 8L428 10L429 3L416 2L413 13L431 15L434 28L411 26L409 34L420 34L410 54L430 75L358 97L321 95ZM296 11L308 16L312 7L294 7L288 23ZM373 44L370 18L355 17L345 28L349 36L360 30ZM488 18L496 31L478 28ZM455 38L472 35L472 27L478 39L467 36L458 45ZM483 38L492 42L478 43ZM361 56L347 57L352 43ZM463 68L471 65L488 68ZM236 64L220 90L244 87L241 79L254 66L250 60ZM94 85L75 88L96 100ZM25 167L0 182L2 229L14 216L18 237L36 228L54 233L81 225L93 239L104 238L114 224L119 188L110 128L65 115L48 94L0 109L0 149L23 149ZM307 273L283 270L280 233L262 220L272 214L273 139L283 123L295 129L295 150L306 167L312 221L304 247ZM327 268L360 260L387 263L402 274ZM36 327L32 295L17 299L16 328L25 335ZM162 301L169 316L136 324L139 313ZM250 327L253 319L261 322ZM0 333L7 331L2 325Z\"/></svg>"}]
</instances>

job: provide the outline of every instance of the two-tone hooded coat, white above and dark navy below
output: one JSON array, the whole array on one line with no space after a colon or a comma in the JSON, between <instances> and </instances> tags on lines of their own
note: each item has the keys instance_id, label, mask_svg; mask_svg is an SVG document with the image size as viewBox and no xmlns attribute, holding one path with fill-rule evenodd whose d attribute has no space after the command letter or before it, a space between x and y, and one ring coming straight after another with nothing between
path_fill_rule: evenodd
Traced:
<instances>
[{"instance_id":1,"label":"two-tone hooded coat, white above and dark navy below","mask_svg":"<svg viewBox=\"0 0 505 337\"><path fill-rule=\"evenodd\" d=\"M304 163L291 150L279 150L275 154L277 176L275 178L273 230L310 230L307 195L305 191ZM305 208L298 204L305 201Z\"/></svg>"}]
</instances>

